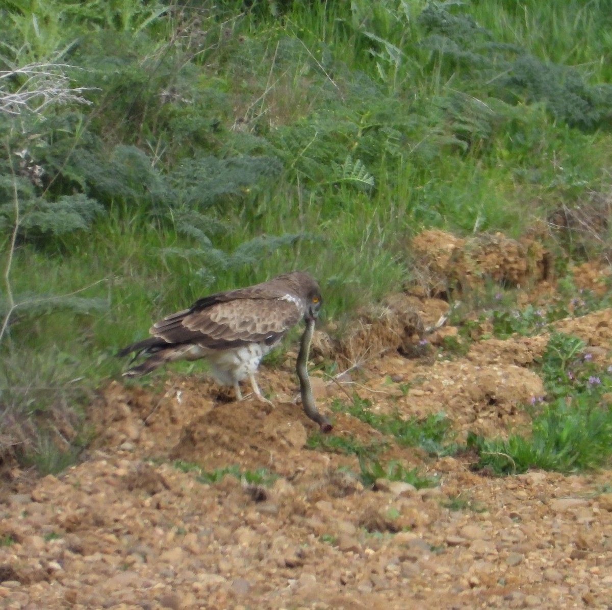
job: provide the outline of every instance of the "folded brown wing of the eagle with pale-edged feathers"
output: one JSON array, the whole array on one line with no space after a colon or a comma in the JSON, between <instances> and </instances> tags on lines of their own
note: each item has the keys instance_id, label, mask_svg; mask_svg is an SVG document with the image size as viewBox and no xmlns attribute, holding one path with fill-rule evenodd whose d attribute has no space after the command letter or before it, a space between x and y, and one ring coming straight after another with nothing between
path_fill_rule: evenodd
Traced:
<instances>
[{"instance_id":1,"label":"folded brown wing of the eagle with pale-edged feathers","mask_svg":"<svg viewBox=\"0 0 612 610\"><path fill-rule=\"evenodd\" d=\"M248 290L248 289L247 289ZM239 291L232 291L232 293ZM168 343L195 343L211 349L249 343L275 343L304 315L293 296L253 298L219 293L197 301L190 309L171 314L150 329Z\"/></svg>"}]
</instances>

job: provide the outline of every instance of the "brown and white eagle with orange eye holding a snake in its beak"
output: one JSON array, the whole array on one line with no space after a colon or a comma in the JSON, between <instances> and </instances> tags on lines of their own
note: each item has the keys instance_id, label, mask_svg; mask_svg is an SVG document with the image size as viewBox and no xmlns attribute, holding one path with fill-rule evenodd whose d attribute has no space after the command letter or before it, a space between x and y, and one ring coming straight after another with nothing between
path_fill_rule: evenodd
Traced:
<instances>
[{"instance_id":1,"label":"brown and white eagle with orange eye holding a snake in its beak","mask_svg":"<svg viewBox=\"0 0 612 610\"><path fill-rule=\"evenodd\" d=\"M124 347L118 356L136 352L132 362L149 356L124 375L136 377L173 360L207 358L221 385L233 386L242 400L239 382L255 380L261 358L302 318L312 320L321 308L319 285L307 273L293 271L268 282L198 299L189 309L155 322L152 337Z\"/></svg>"}]
</instances>

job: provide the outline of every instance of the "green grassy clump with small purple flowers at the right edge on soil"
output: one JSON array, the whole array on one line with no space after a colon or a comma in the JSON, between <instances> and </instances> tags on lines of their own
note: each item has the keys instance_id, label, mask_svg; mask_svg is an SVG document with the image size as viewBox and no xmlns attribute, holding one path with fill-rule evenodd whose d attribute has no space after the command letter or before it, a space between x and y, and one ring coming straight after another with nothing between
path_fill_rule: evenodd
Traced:
<instances>
[{"instance_id":1,"label":"green grassy clump with small purple flowers at the right edge on soil","mask_svg":"<svg viewBox=\"0 0 612 610\"><path fill-rule=\"evenodd\" d=\"M602 369L583 348L578 337L551 334L540 362L547 399L534 397L531 434L507 439L470 434L468 448L480 456L477 468L498 474L529 468L573 472L610 461L612 366Z\"/></svg>"}]
</instances>

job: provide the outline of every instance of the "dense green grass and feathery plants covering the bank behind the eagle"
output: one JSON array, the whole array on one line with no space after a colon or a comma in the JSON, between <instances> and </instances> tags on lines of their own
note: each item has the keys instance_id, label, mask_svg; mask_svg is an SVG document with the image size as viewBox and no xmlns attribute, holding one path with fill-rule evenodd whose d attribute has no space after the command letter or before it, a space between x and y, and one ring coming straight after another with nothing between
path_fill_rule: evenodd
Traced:
<instances>
[{"instance_id":1,"label":"dense green grass and feathery plants covering the bank behind the eagle","mask_svg":"<svg viewBox=\"0 0 612 610\"><path fill-rule=\"evenodd\" d=\"M519 236L608 183L603 0L40 0L0 19L0 453L43 472L86 444L82 405L152 318L304 268L341 322L411 281L419 228ZM588 256L602 231L559 246ZM371 425L441 454L434 420Z\"/></svg>"}]
</instances>

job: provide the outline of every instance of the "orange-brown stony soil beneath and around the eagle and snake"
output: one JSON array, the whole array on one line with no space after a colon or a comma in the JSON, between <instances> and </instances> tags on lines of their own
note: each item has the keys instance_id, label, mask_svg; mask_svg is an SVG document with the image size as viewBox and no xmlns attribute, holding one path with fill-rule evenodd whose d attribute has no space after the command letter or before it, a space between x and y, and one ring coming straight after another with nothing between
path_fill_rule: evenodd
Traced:
<instances>
[{"instance_id":1,"label":"orange-brown stony soil beneath and around the eagle and snake","mask_svg":"<svg viewBox=\"0 0 612 610\"><path fill-rule=\"evenodd\" d=\"M490 252L499 246L485 246L481 258L495 268ZM512 247L504 265L517 282L537 273L536 292L545 294L543 257ZM440 282L444 265L424 285ZM599 274L582 275L596 283ZM319 410L356 392L379 412L443 411L459 439L529 423L521 404L544 393L530 365L546 337L485 339L453 360L415 357L409 345L447 307L425 297L431 292L395 295L342 345L318 337L315 360L335 354L344 368L361 361L336 382L315 378ZM403 329L398 344L381 339L394 324ZM610 362L612 310L558 328ZM428 340L455 332L446 326ZM90 410L97 438L85 461L39 480L14 469L3 483L2 608L612 608L612 471L496 478L472 472L469 456L436 459L391 444L381 459L437 475L438 486L364 488L351 474L359 472L354 456L306 447L316 426L294 402L294 357L261 370L274 407L221 399L204 374L103 388ZM380 438L352 416L331 416L334 434ZM177 460L207 471L265 468L277 478L270 486L230 474L204 483Z\"/></svg>"}]
</instances>

